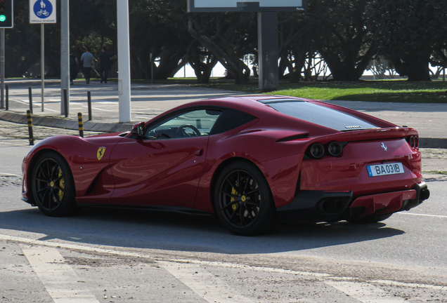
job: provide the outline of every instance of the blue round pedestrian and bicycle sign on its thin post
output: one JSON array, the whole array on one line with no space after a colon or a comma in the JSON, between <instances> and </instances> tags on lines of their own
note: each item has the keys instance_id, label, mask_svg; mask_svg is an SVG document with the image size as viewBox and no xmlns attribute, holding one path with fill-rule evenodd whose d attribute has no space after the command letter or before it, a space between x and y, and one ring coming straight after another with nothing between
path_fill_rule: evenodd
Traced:
<instances>
[{"instance_id":1,"label":"blue round pedestrian and bicycle sign on its thin post","mask_svg":"<svg viewBox=\"0 0 447 303\"><path fill-rule=\"evenodd\" d=\"M1 0L0 0L1 1ZM30 0L30 23L40 24L41 111L45 97L45 23L56 23L56 0Z\"/></svg>"}]
</instances>

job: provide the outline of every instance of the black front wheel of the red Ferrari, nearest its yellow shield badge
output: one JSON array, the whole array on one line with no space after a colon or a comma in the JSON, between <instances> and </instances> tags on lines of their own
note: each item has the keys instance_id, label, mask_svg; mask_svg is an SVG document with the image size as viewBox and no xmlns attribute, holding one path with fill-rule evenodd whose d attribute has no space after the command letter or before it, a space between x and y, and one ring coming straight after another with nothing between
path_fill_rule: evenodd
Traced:
<instances>
[{"instance_id":1,"label":"black front wheel of the red Ferrari, nearest its yellow shield badge","mask_svg":"<svg viewBox=\"0 0 447 303\"><path fill-rule=\"evenodd\" d=\"M45 152L32 170L32 196L42 213L64 217L77 212L73 175L63 156Z\"/></svg>"}]
</instances>

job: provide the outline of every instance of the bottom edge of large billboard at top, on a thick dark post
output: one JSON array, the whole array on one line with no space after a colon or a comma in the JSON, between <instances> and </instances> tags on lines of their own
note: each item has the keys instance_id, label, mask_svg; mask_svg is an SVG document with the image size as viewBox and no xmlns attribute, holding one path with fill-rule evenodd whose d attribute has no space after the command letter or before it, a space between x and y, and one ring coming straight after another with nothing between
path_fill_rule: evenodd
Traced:
<instances>
[{"instance_id":1,"label":"bottom edge of large billboard at top, on a thick dark post","mask_svg":"<svg viewBox=\"0 0 447 303\"><path fill-rule=\"evenodd\" d=\"M188 0L188 12L304 11L307 0Z\"/></svg>"}]
</instances>

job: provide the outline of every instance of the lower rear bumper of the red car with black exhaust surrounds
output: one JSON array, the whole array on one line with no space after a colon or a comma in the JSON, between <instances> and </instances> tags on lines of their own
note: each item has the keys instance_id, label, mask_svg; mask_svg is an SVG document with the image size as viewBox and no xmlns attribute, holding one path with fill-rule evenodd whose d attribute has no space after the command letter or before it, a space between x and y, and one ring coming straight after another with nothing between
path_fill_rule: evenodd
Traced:
<instances>
[{"instance_id":1,"label":"lower rear bumper of the red car with black exhaust surrounds","mask_svg":"<svg viewBox=\"0 0 447 303\"><path fill-rule=\"evenodd\" d=\"M352 191L299 191L292 203L277 208L278 216L294 222L336 222L410 210L429 197L427 184L413 189L352 198Z\"/></svg>"}]
</instances>

